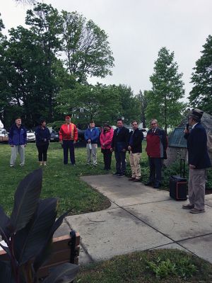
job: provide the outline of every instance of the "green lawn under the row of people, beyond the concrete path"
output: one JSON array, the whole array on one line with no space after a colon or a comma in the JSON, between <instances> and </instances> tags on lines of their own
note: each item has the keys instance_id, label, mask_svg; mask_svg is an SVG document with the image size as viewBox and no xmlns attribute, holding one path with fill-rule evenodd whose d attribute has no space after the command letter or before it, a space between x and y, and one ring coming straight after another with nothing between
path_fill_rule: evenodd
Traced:
<instances>
[{"instance_id":1,"label":"green lawn under the row of people, beyond the concrete path","mask_svg":"<svg viewBox=\"0 0 212 283\"><path fill-rule=\"evenodd\" d=\"M148 158L145 148L146 141L143 141L143 153L141 156L142 182L148 180ZM13 207L13 194L20 180L25 175L39 168L37 161L37 148L35 143L30 143L25 150L25 166L19 166L19 156L16 167L10 168L9 161L11 148L7 144L0 144L0 205L4 207L6 213L10 214ZM126 154L127 168L126 174L131 175L129 166L129 154ZM177 161L170 168L163 171L163 189L168 189L170 175L177 175L179 171ZM112 171L114 167L114 154L112 155ZM86 148L76 148L76 166L64 166L63 151L59 143L51 143L48 151L47 167L43 167L42 198L58 197L59 214L71 210L70 214L81 214L84 212L94 212L110 206L107 197L101 195L97 190L80 180L82 175L105 174L100 147L98 148L98 166L86 166ZM110 172L112 173L112 172ZM188 171L187 171L188 173ZM212 180L212 171L209 171L208 183ZM212 183L212 182L211 182ZM210 183L210 184L211 184Z\"/></svg>"}]
</instances>

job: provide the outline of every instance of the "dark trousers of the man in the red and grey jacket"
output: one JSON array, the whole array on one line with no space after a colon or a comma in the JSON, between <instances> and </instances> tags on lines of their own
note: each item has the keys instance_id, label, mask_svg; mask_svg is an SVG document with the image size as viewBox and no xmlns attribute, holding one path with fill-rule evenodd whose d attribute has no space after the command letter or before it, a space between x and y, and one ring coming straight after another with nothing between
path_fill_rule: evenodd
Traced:
<instances>
[{"instance_id":1,"label":"dark trousers of the man in the red and grey jacket","mask_svg":"<svg viewBox=\"0 0 212 283\"><path fill-rule=\"evenodd\" d=\"M150 174L149 180L150 182L155 183L158 185L161 183L161 169L162 169L162 158L148 158Z\"/></svg>"}]
</instances>

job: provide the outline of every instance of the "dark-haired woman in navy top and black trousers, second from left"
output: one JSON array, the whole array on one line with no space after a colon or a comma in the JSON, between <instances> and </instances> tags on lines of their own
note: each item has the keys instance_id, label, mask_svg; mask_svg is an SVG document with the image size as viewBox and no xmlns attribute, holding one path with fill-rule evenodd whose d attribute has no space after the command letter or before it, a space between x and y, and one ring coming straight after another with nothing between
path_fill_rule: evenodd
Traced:
<instances>
[{"instance_id":1,"label":"dark-haired woman in navy top and black trousers, second from left","mask_svg":"<svg viewBox=\"0 0 212 283\"><path fill-rule=\"evenodd\" d=\"M47 122L44 119L40 120L40 125L35 130L38 161L40 162L40 166L47 166L47 150L49 147L50 132L46 125Z\"/></svg>"}]
</instances>

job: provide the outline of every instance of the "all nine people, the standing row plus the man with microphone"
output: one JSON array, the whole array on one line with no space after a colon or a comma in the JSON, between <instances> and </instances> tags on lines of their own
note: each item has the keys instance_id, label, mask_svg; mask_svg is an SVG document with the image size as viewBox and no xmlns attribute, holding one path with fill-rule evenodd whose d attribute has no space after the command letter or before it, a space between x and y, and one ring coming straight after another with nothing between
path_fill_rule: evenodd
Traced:
<instances>
[{"instance_id":1,"label":"all nine people, the standing row plus the man with microphone","mask_svg":"<svg viewBox=\"0 0 212 283\"><path fill-rule=\"evenodd\" d=\"M183 205L183 209L189 209L196 214L204 212L204 194L206 185L206 168L211 166L208 156L206 130L201 125L201 110L192 110L189 115L189 126L192 129L184 130L184 138L187 139L188 161L189 161L189 204ZM131 166L130 181L141 180L141 152L143 132L139 129L138 122L131 123L132 130L124 127L123 120L117 120L117 128L113 129L107 123L104 124L100 132L95 127L95 122L90 121L84 137L86 139L87 164L97 166L98 140L100 139L101 151L104 157L104 169L110 171L112 152L116 160L116 172L113 174L119 178L126 173L126 152L129 151L129 161ZM35 130L38 160L41 166L47 165L47 149L49 146L50 132L46 127L46 121L40 120L40 125ZM69 154L71 165L75 166L74 144L78 140L78 130L76 125L71 123L71 117L66 116L64 125L59 130L59 141L64 150L64 165L68 164ZM10 166L16 162L17 154L20 154L20 166L25 164L25 146L27 144L27 132L21 124L20 117L12 125L8 144L11 146ZM158 121L151 120L151 129L146 136L146 153L150 167L150 175L145 185L158 188L161 185L161 171L163 159L167 158L167 136L163 129L158 127Z\"/></svg>"}]
</instances>

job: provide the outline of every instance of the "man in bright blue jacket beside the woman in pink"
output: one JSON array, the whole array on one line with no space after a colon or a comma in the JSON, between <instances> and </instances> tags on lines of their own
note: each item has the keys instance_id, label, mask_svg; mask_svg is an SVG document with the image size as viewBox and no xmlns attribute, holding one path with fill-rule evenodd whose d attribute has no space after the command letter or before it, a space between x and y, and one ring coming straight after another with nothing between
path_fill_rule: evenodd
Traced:
<instances>
[{"instance_id":1,"label":"man in bright blue jacket beside the woman in pink","mask_svg":"<svg viewBox=\"0 0 212 283\"><path fill-rule=\"evenodd\" d=\"M90 121L88 129L84 134L86 139L86 149L87 149L87 164L93 164L93 166L97 166L97 149L98 149L98 138L100 135L100 131L97 127L95 127L95 122Z\"/></svg>"}]
</instances>

